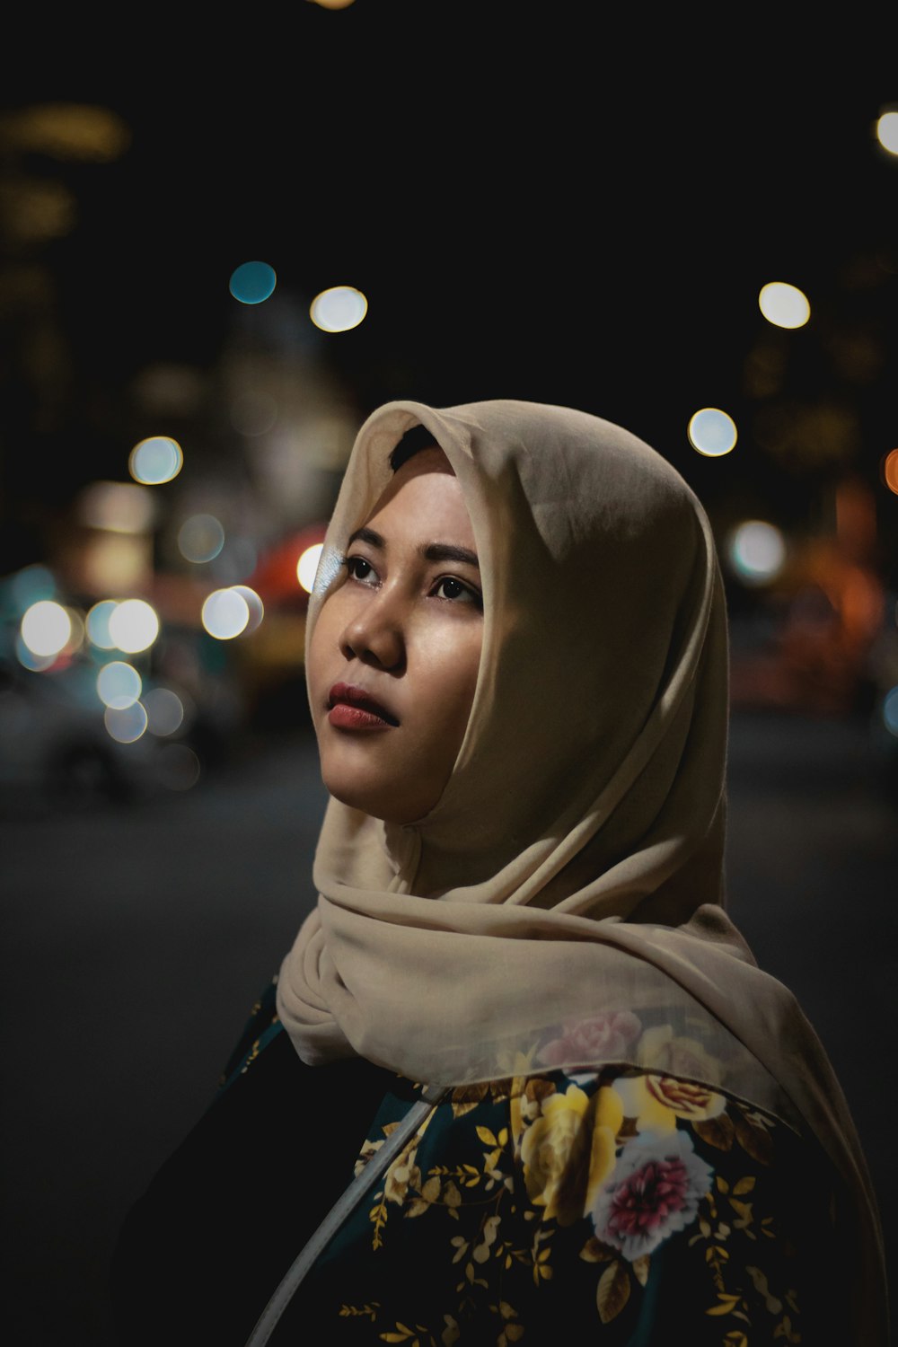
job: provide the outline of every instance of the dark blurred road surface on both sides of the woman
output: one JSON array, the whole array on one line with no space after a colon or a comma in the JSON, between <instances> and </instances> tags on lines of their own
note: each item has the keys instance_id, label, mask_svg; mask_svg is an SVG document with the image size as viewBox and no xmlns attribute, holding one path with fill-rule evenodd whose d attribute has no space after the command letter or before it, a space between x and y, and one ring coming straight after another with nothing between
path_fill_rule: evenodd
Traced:
<instances>
[{"instance_id":1,"label":"dark blurred road surface on both sides of the woman","mask_svg":"<svg viewBox=\"0 0 898 1347\"><path fill-rule=\"evenodd\" d=\"M898 1249L898 799L867 726L739 713L730 909L829 1051ZM118 1223L210 1099L312 901L324 792L296 730L193 791L9 814L1 1121L7 1340L110 1347ZM858 1052L858 1044L862 1052ZM879 1070L875 1070L879 1068Z\"/></svg>"}]
</instances>

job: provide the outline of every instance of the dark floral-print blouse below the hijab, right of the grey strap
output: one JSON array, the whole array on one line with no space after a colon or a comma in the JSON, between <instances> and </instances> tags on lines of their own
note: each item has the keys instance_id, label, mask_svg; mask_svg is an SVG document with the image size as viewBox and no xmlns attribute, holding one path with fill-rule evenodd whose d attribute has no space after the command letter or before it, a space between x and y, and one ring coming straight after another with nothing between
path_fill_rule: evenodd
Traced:
<instances>
[{"instance_id":1,"label":"dark floral-print blouse below the hijab, right of the grey strap","mask_svg":"<svg viewBox=\"0 0 898 1347\"><path fill-rule=\"evenodd\" d=\"M232 1071L253 1060L250 1044ZM357 1173L419 1096L394 1079ZM769 1114L662 1074L456 1088L334 1237L275 1342L303 1340L289 1324L310 1316L337 1344L841 1342L824 1331L836 1239L813 1156Z\"/></svg>"}]
</instances>

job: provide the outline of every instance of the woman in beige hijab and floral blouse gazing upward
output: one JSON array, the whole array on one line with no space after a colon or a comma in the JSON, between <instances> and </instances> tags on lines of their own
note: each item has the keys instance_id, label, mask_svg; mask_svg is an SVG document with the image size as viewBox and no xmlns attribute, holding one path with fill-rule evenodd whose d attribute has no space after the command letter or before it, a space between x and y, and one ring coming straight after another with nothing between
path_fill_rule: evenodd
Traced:
<instances>
[{"instance_id":1,"label":"woman in beige hijab and floral blouse gazing upward","mask_svg":"<svg viewBox=\"0 0 898 1347\"><path fill-rule=\"evenodd\" d=\"M129 1218L123 1344L245 1342L436 1086L273 1342L885 1344L847 1105L724 913L726 613L679 474L568 408L380 408L307 675L318 905Z\"/></svg>"}]
</instances>

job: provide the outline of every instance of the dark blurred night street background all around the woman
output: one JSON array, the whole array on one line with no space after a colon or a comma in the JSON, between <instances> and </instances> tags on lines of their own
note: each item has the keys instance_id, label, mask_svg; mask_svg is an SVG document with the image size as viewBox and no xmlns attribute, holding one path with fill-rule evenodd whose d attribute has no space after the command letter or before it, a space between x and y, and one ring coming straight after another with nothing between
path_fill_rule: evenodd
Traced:
<instances>
[{"instance_id":1,"label":"dark blurred night street background all around the woman","mask_svg":"<svg viewBox=\"0 0 898 1347\"><path fill-rule=\"evenodd\" d=\"M230 26L175 9L16 18L0 57L16 1343L113 1347L117 1223L209 1102L312 901L324 796L292 567L358 424L393 397L580 407L673 462L722 555L739 521L782 531L789 560L769 585L726 567L730 901L844 1082L894 1249L874 1071L895 1052L898 971L898 494L883 475L898 446L898 158L875 139L898 110L894 30L885 5L705 20L302 0ZM277 273L257 306L228 288L249 260ZM808 295L805 327L762 317L770 280ZM326 334L310 303L337 284L369 310ZM250 434L237 404L261 395L277 419ZM707 405L739 430L723 458L687 438ZM191 711L176 744L113 752L96 698L77 742L61 710L97 652L43 672L18 661L19 577L46 568L82 614L106 595L85 578L83 492L128 482L131 447L160 434L184 467L149 489L132 591L163 637L136 663ZM197 511L229 537L199 567L174 546ZM253 558L240 574L232 535ZM237 579L265 618L214 641L201 598Z\"/></svg>"}]
</instances>

